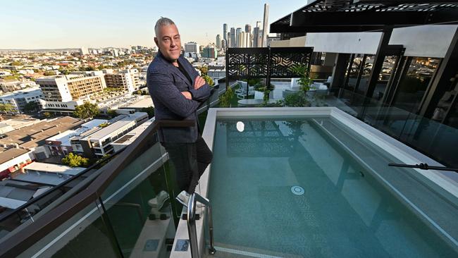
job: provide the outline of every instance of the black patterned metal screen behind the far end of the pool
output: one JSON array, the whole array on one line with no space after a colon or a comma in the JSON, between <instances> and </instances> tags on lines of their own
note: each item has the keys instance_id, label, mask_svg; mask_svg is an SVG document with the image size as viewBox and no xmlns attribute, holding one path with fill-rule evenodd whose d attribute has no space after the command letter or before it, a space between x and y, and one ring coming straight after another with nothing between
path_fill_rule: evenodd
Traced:
<instances>
[{"instance_id":1,"label":"black patterned metal screen behind the far end of the pool","mask_svg":"<svg viewBox=\"0 0 458 258\"><path fill-rule=\"evenodd\" d=\"M226 78L297 78L295 65L310 67L312 47L250 47L228 48L226 51Z\"/></svg>"}]
</instances>

